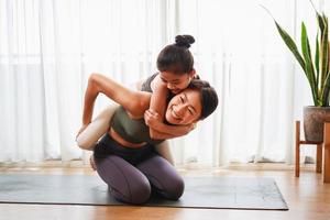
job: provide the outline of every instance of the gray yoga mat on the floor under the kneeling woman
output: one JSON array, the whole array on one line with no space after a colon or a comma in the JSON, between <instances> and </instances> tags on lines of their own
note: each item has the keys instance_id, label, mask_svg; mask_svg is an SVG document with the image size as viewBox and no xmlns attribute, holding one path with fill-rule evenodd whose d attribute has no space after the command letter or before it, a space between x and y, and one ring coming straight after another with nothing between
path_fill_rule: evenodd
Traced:
<instances>
[{"instance_id":1,"label":"gray yoga mat on the floor under the kneeling woman","mask_svg":"<svg viewBox=\"0 0 330 220\"><path fill-rule=\"evenodd\" d=\"M0 202L125 205L117 201L98 176L0 175ZM128 205L125 205L128 206ZM288 210L272 178L186 177L177 201L153 195L144 206L210 209Z\"/></svg>"}]
</instances>

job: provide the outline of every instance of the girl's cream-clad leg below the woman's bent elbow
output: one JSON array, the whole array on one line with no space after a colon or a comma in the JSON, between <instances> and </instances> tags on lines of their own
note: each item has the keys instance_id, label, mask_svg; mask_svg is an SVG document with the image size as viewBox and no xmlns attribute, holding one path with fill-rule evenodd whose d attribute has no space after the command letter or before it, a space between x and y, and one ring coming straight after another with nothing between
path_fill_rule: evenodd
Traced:
<instances>
[{"instance_id":1,"label":"girl's cream-clad leg below the woman's bent elbow","mask_svg":"<svg viewBox=\"0 0 330 220\"><path fill-rule=\"evenodd\" d=\"M117 103L109 106L78 134L76 141L80 148L92 151L98 140L108 132L110 120L118 107Z\"/></svg>"}]
</instances>

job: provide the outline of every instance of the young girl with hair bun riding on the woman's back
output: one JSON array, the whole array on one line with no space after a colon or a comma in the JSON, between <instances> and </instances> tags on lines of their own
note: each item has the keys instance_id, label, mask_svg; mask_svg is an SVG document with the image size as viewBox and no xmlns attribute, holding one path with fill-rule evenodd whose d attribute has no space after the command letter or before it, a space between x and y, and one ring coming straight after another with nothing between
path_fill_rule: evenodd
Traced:
<instances>
[{"instance_id":1,"label":"young girl with hair bun riding on the woman's back","mask_svg":"<svg viewBox=\"0 0 330 220\"><path fill-rule=\"evenodd\" d=\"M195 128L195 124L169 125L164 122L166 100L187 88L190 80L196 77L194 57L189 51L194 42L195 40L190 35L177 35L175 43L167 45L158 54L157 68L160 73L152 75L143 84L140 82L136 85L139 90L153 94L150 109L145 111L144 114L152 139L182 136ZM117 107L117 105L110 106L91 123L91 119L85 119L82 121L82 127L77 135L77 143L81 148L94 148L95 143L108 131L109 121ZM174 163L167 141L158 144L156 148L163 157L172 164Z\"/></svg>"}]
</instances>

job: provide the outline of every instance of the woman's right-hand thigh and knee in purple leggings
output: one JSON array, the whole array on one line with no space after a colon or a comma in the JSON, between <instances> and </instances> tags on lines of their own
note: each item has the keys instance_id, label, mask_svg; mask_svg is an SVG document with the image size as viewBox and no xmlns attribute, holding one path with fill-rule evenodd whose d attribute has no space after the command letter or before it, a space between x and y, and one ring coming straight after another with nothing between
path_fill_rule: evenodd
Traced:
<instances>
[{"instance_id":1,"label":"woman's right-hand thigh and knee in purple leggings","mask_svg":"<svg viewBox=\"0 0 330 220\"><path fill-rule=\"evenodd\" d=\"M185 183L179 174L166 160L154 154L136 165L150 180L158 194L172 200L177 200L184 193Z\"/></svg>"}]
</instances>

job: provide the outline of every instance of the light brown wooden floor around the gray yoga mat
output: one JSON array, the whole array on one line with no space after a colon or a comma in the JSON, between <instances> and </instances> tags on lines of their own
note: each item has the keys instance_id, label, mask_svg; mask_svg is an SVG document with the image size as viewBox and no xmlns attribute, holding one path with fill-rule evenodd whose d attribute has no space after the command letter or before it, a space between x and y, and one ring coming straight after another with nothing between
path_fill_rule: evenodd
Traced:
<instances>
[{"instance_id":1,"label":"light brown wooden floor around the gray yoga mat","mask_svg":"<svg viewBox=\"0 0 330 220\"><path fill-rule=\"evenodd\" d=\"M257 176L275 178L289 211L185 209L113 206L53 206L0 204L0 220L102 220L102 219L179 219L179 220L330 220L330 184L310 166L302 167L301 176L294 177L292 166L283 164L231 165L221 168L185 166L178 168L184 176ZM95 175L87 166L77 165L0 165L3 173L31 173L54 175ZM0 186L1 187L1 186Z\"/></svg>"}]
</instances>

